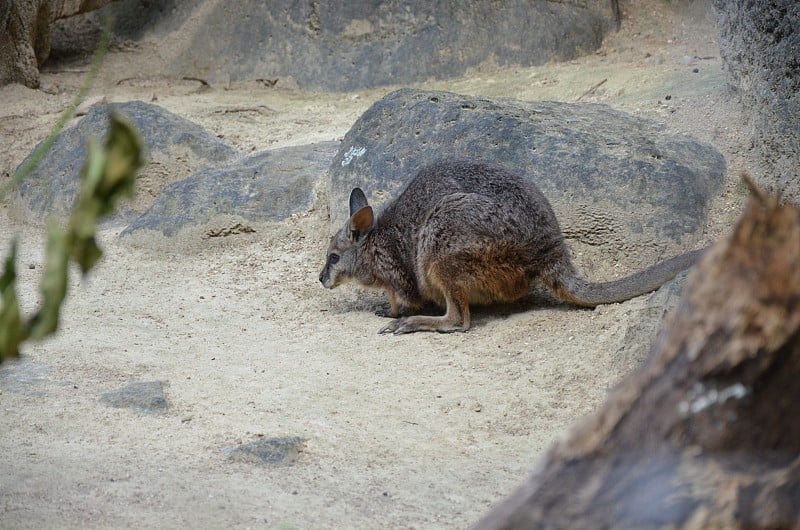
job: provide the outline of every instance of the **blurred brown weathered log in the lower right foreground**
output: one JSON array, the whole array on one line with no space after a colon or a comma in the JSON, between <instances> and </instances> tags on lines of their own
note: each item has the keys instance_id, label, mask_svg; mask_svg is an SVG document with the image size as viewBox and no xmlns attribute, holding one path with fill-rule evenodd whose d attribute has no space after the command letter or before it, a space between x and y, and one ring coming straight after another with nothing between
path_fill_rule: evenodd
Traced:
<instances>
[{"instance_id":1,"label":"blurred brown weathered log in the lower right foreground","mask_svg":"<svg viewBox=\"0 0 800 530\"><path fill-rule=\"evenodd\" d=\"M800 209L753 188L647 362L476 528L800 528Z\"/></svg>"}]
</instances>

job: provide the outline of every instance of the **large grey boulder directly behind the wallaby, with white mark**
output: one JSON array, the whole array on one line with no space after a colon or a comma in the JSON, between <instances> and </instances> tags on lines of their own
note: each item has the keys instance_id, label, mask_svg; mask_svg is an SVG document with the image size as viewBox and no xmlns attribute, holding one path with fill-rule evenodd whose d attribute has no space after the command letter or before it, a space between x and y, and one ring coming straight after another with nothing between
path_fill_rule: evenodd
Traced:
<instances>
[{"instance_id":1,"label":"large grey boulder directly behind the wallaby, with white mark","mask_svg":"<svg viewBox=\"0 0 800 530\"><path fill-rule=\"evenodd\" d=\"M445 158L498 162L532 179L567 238L600 250L593 266L621 258L639 265L636 258L695 245L725 176L713 146L604 105L403 89L344 137L330 171L332 229L347 218L351 188L380 205L420 167Z\"/></svg>"}]
</instances>

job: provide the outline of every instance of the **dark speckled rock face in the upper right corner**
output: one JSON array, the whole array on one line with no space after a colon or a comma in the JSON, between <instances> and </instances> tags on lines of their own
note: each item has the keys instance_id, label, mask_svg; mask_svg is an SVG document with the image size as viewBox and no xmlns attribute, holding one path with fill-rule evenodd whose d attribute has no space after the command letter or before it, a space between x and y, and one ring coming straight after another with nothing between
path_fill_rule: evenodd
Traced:
<instances>
[{"instance_id":1,"label":"dark speckled rock face in the upper right corner","mask_svg":"<svg viewBox=\"0 0 800 530\"><path fill-rule=\"evenodd\" d=\"M750 113L765 185L800 201L800 3L714 0L730 82Z\"/></svg>"}]
</instances>

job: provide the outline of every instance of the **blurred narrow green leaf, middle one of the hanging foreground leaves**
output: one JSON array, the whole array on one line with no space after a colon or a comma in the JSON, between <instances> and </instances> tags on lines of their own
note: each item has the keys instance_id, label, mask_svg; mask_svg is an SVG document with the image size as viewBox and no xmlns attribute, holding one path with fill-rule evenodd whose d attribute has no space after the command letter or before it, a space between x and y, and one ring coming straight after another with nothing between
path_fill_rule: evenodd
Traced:
<instances>
[{"instance_id":1,"label":"blurred narrow green leaf, middle one of the hanging foreground leaves","mask_svg":"<svg viewBox=\"0 0 800 530\"><path fill-rule=\"evenodd\" d=\"M61 304L67 296L68 272L67 238L56 222L47 231L45 267L39 290L42 293L42 307L30 321L30 337L41 340L58 329Z\"/></svg>"}]
</instances>

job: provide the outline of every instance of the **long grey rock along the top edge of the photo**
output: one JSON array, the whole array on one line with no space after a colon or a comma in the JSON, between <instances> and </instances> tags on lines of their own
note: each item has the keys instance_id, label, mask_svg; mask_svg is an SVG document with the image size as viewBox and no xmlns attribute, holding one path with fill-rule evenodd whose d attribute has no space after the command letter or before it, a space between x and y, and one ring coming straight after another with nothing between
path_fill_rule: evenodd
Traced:
<instances>
[{"instance_id":1,"label":"long grey rock along the top edge of the photo","mask_svg":"<svg viewBox=\"0 0 800 530\"><path fill-rule=\"evenodd\" d=\"M615 0L242 0L190 2L177 10L163 4L148 3L144 11L141 2L114 5L126 21L118 32L164 35L195 6L191 14L202 20L174 64L180 73L210 80L291 77L321 90L453 77L484 62L568 60L597 49L618 22Z\"/></svg>"}]
</instances>

